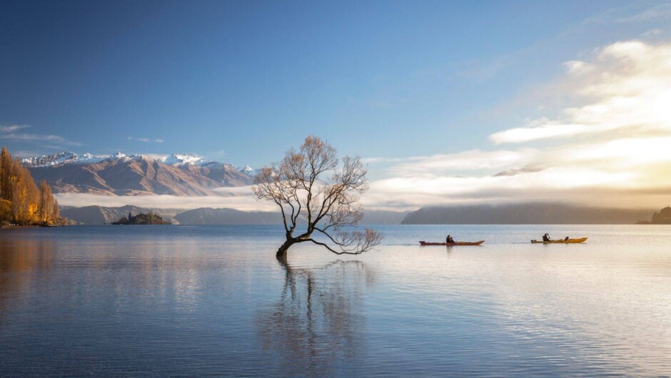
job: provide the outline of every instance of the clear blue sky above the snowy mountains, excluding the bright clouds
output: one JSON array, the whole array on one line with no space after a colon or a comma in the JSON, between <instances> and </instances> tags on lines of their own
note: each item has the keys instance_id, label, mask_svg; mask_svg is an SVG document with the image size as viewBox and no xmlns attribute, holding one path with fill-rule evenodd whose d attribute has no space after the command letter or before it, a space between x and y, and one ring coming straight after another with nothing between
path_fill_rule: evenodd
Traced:
<instances>
[{"instance_id":1,"label":"clear blue sky above the snowy mountains, excluding the bright clouds","mask_svg":"<svg viewBox=\"0 0 671 378\"><path fill-rule=\"evenodd\" d=\"M72 143L2 143L34 153L188 151L255 166L309 133L365 157L483 148L490 133L537 115L511 104L563 61L668 27L663 18L585 20L655 5L5 3L0 125Z\"/></svg>"}]
</instances>

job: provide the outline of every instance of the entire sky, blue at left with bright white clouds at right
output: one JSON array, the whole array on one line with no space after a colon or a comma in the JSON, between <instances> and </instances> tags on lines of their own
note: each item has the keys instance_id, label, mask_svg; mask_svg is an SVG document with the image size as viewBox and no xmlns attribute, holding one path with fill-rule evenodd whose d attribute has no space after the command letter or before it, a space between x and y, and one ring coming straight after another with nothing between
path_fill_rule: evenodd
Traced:
<instances>
[{"instance_id":1,"label":"entire sky, blue at left with bright white clouds at right","mask_svg":"<svg viewBox=\"0 0 671 378\"><path fill-rule=\"evenodd\" d=\"M261 167L308 134L370 208L671 203L669 1L6 1L0 145Z\"/></svg>"}]
</instances>

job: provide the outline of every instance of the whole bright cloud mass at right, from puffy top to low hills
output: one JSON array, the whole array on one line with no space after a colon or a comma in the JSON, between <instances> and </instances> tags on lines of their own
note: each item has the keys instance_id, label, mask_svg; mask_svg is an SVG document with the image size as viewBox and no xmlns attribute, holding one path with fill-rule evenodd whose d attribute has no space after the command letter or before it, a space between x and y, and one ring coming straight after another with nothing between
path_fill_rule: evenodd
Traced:
<instances>
[{"instance_id":1,"label":"whole bright cloud mass at right, from puffy top to low hills","mask_svg":"<svg viewBox=\"0 0 671 378\"><path fill-rule=\"evenodd\" d=\"M574 101L560 108L562 116L532 119L490 136L495 144L548 143L389 160L395 163L388 168L392 177L370 183L365 205L412 210L529 201L617 208L667 203L671 45L621 41L565 66L567 85L552 87L556 96Z\"/></svg>"}]
</instances>

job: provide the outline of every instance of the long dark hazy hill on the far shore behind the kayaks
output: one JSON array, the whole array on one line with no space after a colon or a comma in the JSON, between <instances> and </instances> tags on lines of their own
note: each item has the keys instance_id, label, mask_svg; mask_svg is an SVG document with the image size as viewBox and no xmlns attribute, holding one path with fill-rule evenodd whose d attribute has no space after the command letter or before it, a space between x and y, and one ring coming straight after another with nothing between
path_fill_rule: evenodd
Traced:
<instances>
[{"instance_id":1,"label":"long dark hazy hill on the far shore behind the kayaks","mask_svg":"<svg viewBox=\"0 0 671 378\"><path fill-rule=\"evenodd\" d=\"M425 207L403 218L404 225L446 224L632 224L651 210L588 208L558 203Z\"/></svg>"}]
</instances>

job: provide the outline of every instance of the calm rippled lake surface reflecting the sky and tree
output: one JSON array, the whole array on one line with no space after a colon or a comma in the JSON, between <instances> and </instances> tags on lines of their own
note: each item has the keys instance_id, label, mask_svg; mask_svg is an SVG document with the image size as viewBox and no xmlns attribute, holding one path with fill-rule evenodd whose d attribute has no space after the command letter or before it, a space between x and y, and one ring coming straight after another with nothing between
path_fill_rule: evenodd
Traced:
<instances>
[{"instance_id":1,"label":"calm rippled lake surface reflecting the sky and tree","mask_svg":"<svg viewBox=\"0 0 671 378\"><path fill-rule=\"evenodd\" d=\"M0 376L671 375L668 226L375 228L286 264L276 226L0 230Z\"/></svg>"}]
</instances>

